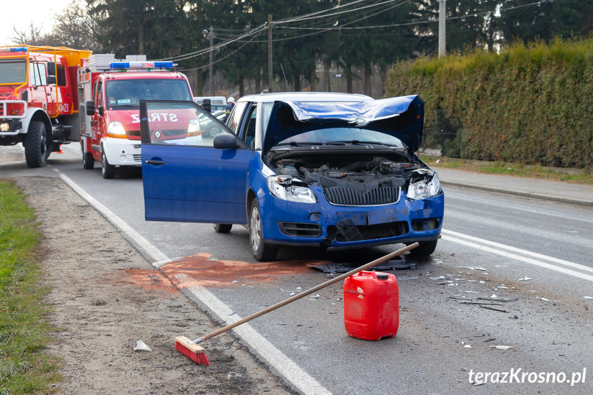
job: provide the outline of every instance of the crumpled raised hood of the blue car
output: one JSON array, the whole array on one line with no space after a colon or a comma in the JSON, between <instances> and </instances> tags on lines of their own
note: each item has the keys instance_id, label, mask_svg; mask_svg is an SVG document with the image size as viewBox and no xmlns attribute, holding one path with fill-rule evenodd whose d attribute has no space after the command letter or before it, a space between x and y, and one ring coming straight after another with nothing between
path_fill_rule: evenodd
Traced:
<instances>
[{"instance_id":1,"label":"crumpled raised hood of the blue car","mask_svg":"<svg viewBox=\"0 0 593 395\"><path fill-rule=\"evenodd\" d=\"M284 139L324 124L350 124L399 138L415 153L422 141L424 102L418 95L360 102L274 102L263 141L267 152Z\"/></svg>"}]
</instances>

